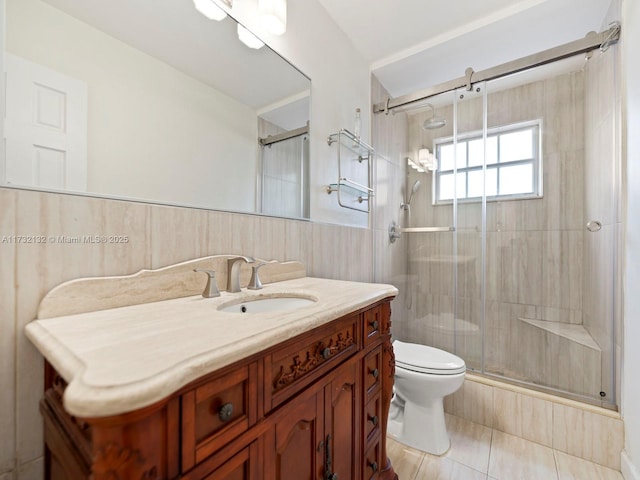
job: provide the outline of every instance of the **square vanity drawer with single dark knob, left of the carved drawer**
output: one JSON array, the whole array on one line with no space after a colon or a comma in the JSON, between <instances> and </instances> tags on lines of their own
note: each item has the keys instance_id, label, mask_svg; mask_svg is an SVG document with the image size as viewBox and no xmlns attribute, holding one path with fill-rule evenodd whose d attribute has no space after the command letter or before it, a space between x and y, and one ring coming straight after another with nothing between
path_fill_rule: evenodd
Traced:
<instances>
[{"instance_id":1,"label":"square vanity drawer with single dark knob, left of the carved drawer","mask_svg":"<svg viewBox=\"0 0 640 480\"><path fill-rule=\"evenodd\" d=\"M235 368L182 396L182 465L191 468L256 422L257 367Z\"/></svg>"}]
</instances>

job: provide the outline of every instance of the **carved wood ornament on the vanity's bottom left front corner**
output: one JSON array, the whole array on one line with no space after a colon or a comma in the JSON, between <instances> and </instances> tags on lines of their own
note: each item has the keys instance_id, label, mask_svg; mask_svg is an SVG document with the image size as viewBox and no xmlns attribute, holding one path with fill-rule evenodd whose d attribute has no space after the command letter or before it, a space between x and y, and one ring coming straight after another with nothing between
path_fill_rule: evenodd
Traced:
<instances>
[{"instance_id":1,"label":"carved wood ornament on the vanity's bottom left front corner","mask_svg":"<svg viewBox=\"0 0 640 480\"><path fill-rule=\"evenodd\" d=\"M91 480L155 480L158 468L149 465L139 450L108 443L93 458Z\"/></svg>"}]
</instances>

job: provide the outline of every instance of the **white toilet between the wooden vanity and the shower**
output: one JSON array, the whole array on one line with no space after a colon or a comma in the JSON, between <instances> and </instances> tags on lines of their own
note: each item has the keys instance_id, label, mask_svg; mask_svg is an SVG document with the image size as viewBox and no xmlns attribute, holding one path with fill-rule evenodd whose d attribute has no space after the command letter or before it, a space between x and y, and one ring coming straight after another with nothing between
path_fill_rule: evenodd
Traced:
<instances>
[{"instance_id":1,"label":"white toilet between the wooden vanity and the shower","mask_svg":"<svg viewBox=\"0 0 640 480\"><path fill-rule=\"evenodd\" d=\"M387 432L405 445L442 455L450 445L443 400L462 386L464 360L444 350L398 340L393 351L396 374Z\"/></svg>"}]
</instances>

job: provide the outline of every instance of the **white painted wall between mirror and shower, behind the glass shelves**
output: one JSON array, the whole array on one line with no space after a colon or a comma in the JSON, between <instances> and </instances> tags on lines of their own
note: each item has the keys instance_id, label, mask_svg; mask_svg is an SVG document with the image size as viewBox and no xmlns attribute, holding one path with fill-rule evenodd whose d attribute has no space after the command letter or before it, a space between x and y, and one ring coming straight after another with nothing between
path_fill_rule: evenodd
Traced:
<instances>
[{"instance_id":1,"label":"white painted wall between mirror and shower, behind the glass shelves","mask_svg":"<svg viewBox=\"0 0 640 480\"><path fill-rule=\"evenodd\" d=\"M325 188L338 177L336 147L326 139L341 128L353 130L356 108L362 110L362 139L369 142L369 65L317 1L290 1L287 15L287 32L276 37L261 27L257 0L233 5L240 23L311 78L311 219L367 226L365 213L339 207Z\"/></svg>"}]
</instances>

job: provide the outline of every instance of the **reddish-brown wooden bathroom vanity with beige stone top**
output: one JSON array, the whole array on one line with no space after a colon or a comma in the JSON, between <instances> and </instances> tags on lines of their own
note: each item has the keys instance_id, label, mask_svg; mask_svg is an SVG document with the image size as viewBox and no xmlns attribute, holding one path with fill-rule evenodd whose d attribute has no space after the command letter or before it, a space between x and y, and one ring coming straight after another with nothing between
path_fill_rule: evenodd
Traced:
<instances>
[{"instance_id":1,"label":"reddish-brown wooden bathroom vanity with beige stone top","mask_svg":"<svg viewBox=\"0 0 640 480\"><path fill-rule=\"evenodd\" d=\"M196 285L194 262L221 258L167 271ZM278 265L262 290L217 298L89 310L93 279L50 292L55 305L45 298L26 330L46 360L46 478L397 478L385 442L397 290ZM278 278L288 279L269 283ZM111 283L97 288L99 305L121 288ZM57 315L67 297L85 311ZM249 313L271 298L312 301Z\"/></svg>"}]
</instances>

